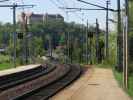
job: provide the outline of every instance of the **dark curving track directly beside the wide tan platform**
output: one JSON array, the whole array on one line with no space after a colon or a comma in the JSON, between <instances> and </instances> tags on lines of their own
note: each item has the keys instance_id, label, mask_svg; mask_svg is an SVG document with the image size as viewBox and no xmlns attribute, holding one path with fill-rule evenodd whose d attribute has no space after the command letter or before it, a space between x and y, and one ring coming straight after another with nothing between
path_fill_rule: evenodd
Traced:
<instances>
[{"instance_id":1,"label":"dark curving track directly beside the wide tan platform","mask_svg":"<svg viewBox=\"0 0 133 100\"><path fill-rule=\"evenodd\" d=\"M72 83L81 73L79 65L70 65L70 71L55 82L42 87L34 92L23 95L16 100L47 100L65 86Z\"/></svg>"}]
</instances>

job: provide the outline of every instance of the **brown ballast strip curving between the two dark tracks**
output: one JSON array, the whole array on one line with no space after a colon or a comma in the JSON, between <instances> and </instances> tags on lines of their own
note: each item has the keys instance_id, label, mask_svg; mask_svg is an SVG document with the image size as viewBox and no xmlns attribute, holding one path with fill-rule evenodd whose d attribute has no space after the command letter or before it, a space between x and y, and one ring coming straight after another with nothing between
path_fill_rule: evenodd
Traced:
<instances>
[{"instance_id":1,"label":"brown ballast strip curving between the two dark tracks","mask_svg":"<svg viewBox=\"0 0 133 100\"><path fill-rule=\"evenodd\" d=\"M49 71L39 77L34 77L32 80L27 80L21 84L15 84L13 87L6 88L0 91L1 100L14 100L32 91L35 91L43 86L46 86L69 72L69 66L63 66L62 64L52 63L54 70ZM48 67L50 68L50 67ZM40 74L40 73L38 73ZM8 83L7 83L8 84ZM7 86L8 87L8 86ZM6 89L5 89L6 88Z\"/></svg>"}]
</instances>

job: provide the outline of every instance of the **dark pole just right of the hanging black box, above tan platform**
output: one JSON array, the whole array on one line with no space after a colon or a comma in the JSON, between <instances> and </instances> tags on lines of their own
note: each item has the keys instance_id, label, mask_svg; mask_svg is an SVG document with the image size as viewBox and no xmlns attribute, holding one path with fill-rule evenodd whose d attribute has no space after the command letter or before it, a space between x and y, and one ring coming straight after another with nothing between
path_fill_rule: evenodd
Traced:
<instances>
[{"instance_id":1,"label":"dark pole just right of the hanging black box, above tan platform","mask_svg":"<svg viewBox=\"0 0 133 100\"><path fill-rule=\"evenodd\" d=\"M98 19L96 19L96 59L99 62L99 24Z\"/></svg>"}]
</instances>

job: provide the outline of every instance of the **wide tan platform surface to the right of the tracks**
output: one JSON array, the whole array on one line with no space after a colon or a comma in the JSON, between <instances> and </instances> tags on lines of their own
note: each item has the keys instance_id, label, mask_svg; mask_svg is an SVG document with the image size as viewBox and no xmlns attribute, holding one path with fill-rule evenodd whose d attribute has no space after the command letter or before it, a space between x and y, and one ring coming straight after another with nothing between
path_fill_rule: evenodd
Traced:
<instances>
[{"instance_id":1,"label":"wide tan platform surface to the right of the tracks","mask_svg":"<svg viewBox=\"0 0 133 100\"><path fill-rule=\"evenodd\" d=\"M119 87L111 69L88 69L76 82L50 100L131 100Z\"/></svg>"}]
</instances>

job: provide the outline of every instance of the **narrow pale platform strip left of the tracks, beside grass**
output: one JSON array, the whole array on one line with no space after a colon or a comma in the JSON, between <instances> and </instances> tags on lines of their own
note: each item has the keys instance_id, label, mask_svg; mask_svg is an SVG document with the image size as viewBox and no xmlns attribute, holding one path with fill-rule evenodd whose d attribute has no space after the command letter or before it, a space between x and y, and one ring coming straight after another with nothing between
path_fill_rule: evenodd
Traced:
<instances>
[{"instance_id":1,"label":"narrow pale platform strip left of the tracks, beside grass","mask_svg":"<svg viewBox=\"0 0 133 100\"><path fill-rule=\"evenodd\" d=\"M39 66L40 66L40 64L31 64L31 65L18 66L16 68L2 70L2 71L0 71L0 77L5 76L5 75L9 75L9 74L13 74L13 73L18 73L18 72L30 70L30 69L34 69L34 68L39 67Z\"/></svg>"}]
</instances>

